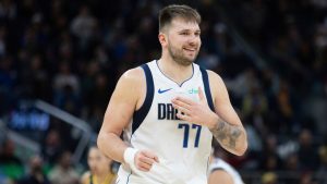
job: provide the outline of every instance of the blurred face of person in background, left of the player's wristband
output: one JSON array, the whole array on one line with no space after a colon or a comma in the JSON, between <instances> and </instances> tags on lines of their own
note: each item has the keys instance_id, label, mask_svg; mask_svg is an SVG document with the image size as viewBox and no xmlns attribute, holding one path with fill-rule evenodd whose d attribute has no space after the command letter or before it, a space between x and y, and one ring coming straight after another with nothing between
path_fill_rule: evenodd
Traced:
<instances>
[{"instance_id":1,"label":"blurred face of person in background, left of the player's wristband","mask_svg":"<svg viewBox=\"0 0 327 184\"><path fill-rule=\"evenodd\" d=\"M108 159L98 148L93 147L88 152L87 163L93 174L108 172L110 159Z\"/></svg>"}]
</instances>

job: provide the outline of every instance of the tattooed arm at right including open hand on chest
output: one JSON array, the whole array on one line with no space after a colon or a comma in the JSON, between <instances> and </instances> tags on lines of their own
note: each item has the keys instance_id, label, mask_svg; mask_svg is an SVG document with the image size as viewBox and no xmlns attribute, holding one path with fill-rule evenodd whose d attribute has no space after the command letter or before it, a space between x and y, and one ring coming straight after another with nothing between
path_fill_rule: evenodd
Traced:
<instances>
[{"instance_id":1,"label":"tattooed arm at right including open hand on chest","mask_svg":"<svg viewBox=\"0 0 327 184\"><path fill-rule=\"evenodd\" d=\"M184 97L177 97L172 100L174 108L183 112L183 114L179 113L178 118L208 126L214 137L225 149L241 156L247 148L245 130L231 106L227 88L221 77L214 72L208 72L208 74L215 112L209 109L206 98L204 97L204 91L199 88L198 102Z\"/></svg>"}]
</instances>

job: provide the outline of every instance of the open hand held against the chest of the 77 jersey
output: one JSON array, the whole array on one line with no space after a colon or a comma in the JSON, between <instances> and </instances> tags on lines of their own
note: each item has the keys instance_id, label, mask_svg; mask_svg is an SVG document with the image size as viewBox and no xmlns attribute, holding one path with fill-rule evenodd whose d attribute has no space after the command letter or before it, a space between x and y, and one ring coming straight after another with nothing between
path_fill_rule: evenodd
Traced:
<instances>
[{"instance_id":1,"label":"open hand held against the chest of the 77 jersey","mask_svg":"<svg viewBox=\"0 0 327 184\"><path fill-rule=\"evenodd\" d=\"M173 108L179 111L177 114L179 119L211 127L217 123L219 116L210 110L201 87L198 87L198 99L199 101L193 101L189 98L178 96L171 102Z\"/></svg>"}]
</instances>

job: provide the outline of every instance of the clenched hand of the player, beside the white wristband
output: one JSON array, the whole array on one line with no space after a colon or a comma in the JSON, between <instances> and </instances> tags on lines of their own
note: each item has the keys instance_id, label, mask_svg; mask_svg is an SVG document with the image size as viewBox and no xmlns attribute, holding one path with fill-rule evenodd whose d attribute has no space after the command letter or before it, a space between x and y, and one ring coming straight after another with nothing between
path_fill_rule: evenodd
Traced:
<instances>
[{"instance_id":1,"label":"clenched hand of the player, beside the white wristband","mask_svg":"<svg viewBox=\"0 0 327 184\"><path fill-rule=\"evenodd\" d=\"M149 171L155 162L159 162L158 156L149 150L140 150L134 158L135 165L141 171Z\"/></svg>"}]
</instances>

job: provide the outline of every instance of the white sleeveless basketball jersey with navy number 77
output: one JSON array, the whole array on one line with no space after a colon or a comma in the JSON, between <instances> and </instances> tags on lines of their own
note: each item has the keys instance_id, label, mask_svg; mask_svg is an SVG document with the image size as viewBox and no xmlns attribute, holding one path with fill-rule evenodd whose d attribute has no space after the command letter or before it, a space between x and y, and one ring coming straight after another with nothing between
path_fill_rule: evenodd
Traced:
<instances>
[{"instance_id":1,"label":"white sleeveless basketball jersey with navy number 77","mask_svg":"<svg viewBox=\"0 0 327 184\"><path fill-rule=\"evenodd\" d=\"M136 149L153 150L159 157L149 172L121 165L119 184L207 184L213 135L208 127L177 118L171 99L181 95L198 100L198 87L211 110L207 72L193 64L193 75L179 85L166 76L157 61L142 65L147 83L144 105L134 113L124 139ZM131 91L133 93L133 91Z\"/></svg>"}]
</instances>

